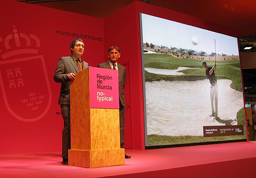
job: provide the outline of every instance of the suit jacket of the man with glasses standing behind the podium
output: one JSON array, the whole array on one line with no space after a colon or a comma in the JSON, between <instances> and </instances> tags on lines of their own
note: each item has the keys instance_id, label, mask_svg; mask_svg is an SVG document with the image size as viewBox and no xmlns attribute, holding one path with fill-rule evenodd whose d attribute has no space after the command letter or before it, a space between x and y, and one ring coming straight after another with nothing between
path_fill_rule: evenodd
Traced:
<instances>
[{"instance_id":1,"label":"suit jacket of the man with glasses standing behind the podium","mask_svg":"<svg viewBox=\"0 0 256 178\"><path fill-rule=\"evenodd\" d=\"M98 64L99 68L112 69L109 62L104 62L102 64ZM124 99L124 86L126 81L126 69L121 64L117 63L118 67L118 86L119 86L119 100L122 106L125 107L125 99Z\"/></svg>"}]
</instances>

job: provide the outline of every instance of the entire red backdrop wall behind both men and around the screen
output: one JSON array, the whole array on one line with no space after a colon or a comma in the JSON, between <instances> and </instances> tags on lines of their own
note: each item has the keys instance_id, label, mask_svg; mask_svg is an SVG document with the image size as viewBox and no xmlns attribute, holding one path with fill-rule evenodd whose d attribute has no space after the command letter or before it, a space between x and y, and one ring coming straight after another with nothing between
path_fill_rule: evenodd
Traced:
<instances>
[{"instance_id":1,"label":"entire red backdrop wall behind both men and around the screen","mask_svg":"<svg viewBox=\"0 0 256 178\"><path fill-rule=\"evenodd\" d=\"M236 31L230 28L143 2L133 2L105 19L15 1L0 2L0 6L4 7L0 12L1 152L61 150L60 84L53 81L53 75L59 58L70 55L70 42L77 37L57 35L56 30L99 38L82 38L85 42L82 58L91 66L108 60L107 49L110 46L120 47L119 62L128 66L129 74L130 87L125 88L125 92L129 97L127 104L131 106L126 108L130 113L126 118L129 124L126 132L131 138L126 143L132 149L144 149L139 13L237 36ZM14 33L18 34L20 45L15 42ZM24 36L28 38L22 38ZM40 41L40 45L36 41ZM15 76L19 72L22 77ZM10 88L12 80L14 84L23 82L24 86ZM45 96L36 110L21 102L26 98L30 100L29 93L35 93L36 97Z\"/></svg>"}]
</instances>

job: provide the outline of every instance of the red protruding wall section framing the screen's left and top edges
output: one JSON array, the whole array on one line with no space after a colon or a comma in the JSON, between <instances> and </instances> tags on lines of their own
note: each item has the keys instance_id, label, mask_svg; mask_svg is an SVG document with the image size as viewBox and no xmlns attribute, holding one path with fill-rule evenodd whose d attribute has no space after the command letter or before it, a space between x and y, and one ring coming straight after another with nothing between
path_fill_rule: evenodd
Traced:
<instances>
[{"instance_id":1,"label":"red protruding wall section framing the screen's left and top edges","mask_svg":"<svg viewBox=\"0 0 256 178\"><path fill-rule=\"evenodd\" d=\"M132 2L104 19L105 52L109 46L119 46L121 50L119 62L129 66L127 72L130 72L130 78L127 79L130 82L130 88L125 88L125 92L129 92L126 100L130 101L126 105L131 104L126 106L126 111L130 110L131 114L129 116L128 112L125 118L125 148L133 149L145 149L139 13L237 36L237 32L228 27L138 1ZM129 95L130 98L128 98Z\"/></svg>"}]
</instances>

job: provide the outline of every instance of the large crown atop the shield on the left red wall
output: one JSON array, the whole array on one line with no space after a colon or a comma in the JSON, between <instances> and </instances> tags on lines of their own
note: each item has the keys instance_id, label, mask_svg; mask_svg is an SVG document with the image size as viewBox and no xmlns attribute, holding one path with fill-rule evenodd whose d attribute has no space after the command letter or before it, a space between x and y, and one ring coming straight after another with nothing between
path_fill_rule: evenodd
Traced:
<instances>
[{"instance_id":1,"label":"large crown atop the shield on the left red wall","mask_svg":"<svg viewBox=\"0 0 256 178\"><path fill-rule=\"evenodd\" d=\"M40 40L34 34L18 33L16 26L12 26L13 33L7 35L5 38L0 37L0 56L3 59L20 55L20 54L38 54L40 48Z\"/></svg>"}]
</instances>

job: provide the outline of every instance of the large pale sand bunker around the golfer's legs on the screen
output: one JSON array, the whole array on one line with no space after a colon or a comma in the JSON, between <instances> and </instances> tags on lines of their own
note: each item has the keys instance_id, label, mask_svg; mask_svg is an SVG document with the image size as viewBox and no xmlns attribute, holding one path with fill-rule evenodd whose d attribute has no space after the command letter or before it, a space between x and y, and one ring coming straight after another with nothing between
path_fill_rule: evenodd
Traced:
<instances>
[{"instance_id":1,"label":"large pale sand bunker around the golfer's legs on the screen","mask_svg":"<svg viewBox=\"0 0 256 178\"><path fill-rule=\"evenodd\" d=\"M231 80L218 80L218 115L210 117L210 83L197 81L146 82L147 134L202 136L203 126L237 125L236 113L244 107L242 92Z\"/></svg>"}]
</instances>

